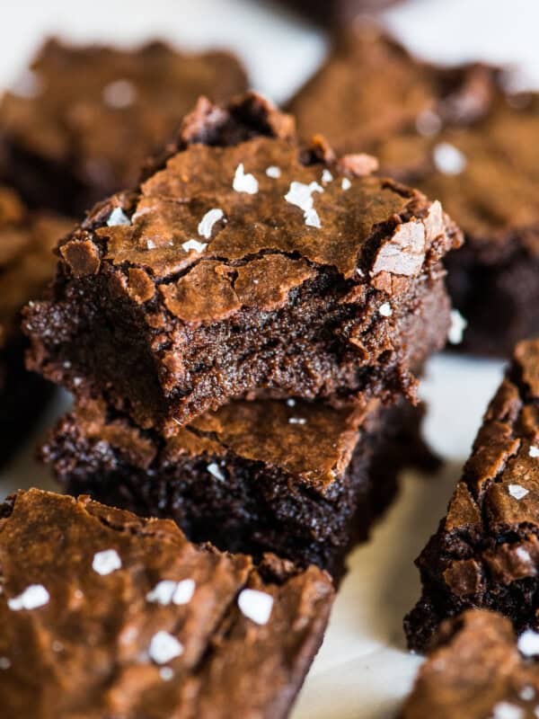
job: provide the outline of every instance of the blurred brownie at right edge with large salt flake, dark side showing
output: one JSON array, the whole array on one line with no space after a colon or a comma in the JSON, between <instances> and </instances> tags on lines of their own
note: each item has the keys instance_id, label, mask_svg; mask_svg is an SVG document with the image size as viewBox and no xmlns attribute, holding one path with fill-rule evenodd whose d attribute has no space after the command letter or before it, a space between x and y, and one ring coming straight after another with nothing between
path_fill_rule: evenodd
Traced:
<instances>
[{"instance_id":1,"label":"blurred brownie at right edge with large salt flake, dark side showing","mask_svg":"<svg viewBox=\"0 0 539 719\"><path fill-rule=\"evenodd\" d=\"M483 75L485 94L495 93ZM479 92L479 90L478 90ZM448 288L468 321L463 349L510 355L539 333L539 94L499 93L473 122L379 146L388 172L439 198L466 244L448 258Z\"/></svg>"}]
</instances>

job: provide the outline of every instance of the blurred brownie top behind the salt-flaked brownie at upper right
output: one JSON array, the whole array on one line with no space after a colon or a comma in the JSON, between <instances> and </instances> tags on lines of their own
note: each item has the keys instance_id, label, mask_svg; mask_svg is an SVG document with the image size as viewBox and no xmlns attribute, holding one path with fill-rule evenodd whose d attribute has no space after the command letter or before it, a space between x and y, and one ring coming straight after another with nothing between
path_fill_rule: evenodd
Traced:
<instances>
[{"instance_id":1,"label":"blurred brownie top behind the salt-flaked brownie at upper right","mask_svg":"<svg viewBox=\"0 0 539 719\"><path fill-rule=\"evenodd\" d=\"M457 123L477 117L492 93L482 75L497 71L481 65L433 67L372 23L356 22L289 110L304 138L322 132L340 151L366 151L403 129L428 133L440 114Z\"/></svg>"}]
</instances>

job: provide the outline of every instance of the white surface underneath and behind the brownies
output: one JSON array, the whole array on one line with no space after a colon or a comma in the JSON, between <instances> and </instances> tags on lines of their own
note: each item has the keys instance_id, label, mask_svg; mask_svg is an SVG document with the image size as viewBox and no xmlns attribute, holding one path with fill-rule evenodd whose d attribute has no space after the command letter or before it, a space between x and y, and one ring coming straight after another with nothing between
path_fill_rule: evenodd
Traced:
<instances>
[{"instance_id":1,"label":"white surface underneath and behind the brownies","mask_svg":"<svg viewBox=\"0 0 539 719\"><path fill-rule=\"evenodd\" d=\"M411 0L386 18L426 57L521 63L529 82L539 86L536 0ZM190 48L228 46L249 67L253 86L277 101L314 71L325 51L322 33L285 11L270 12L257 0L19 0L3 7L2 30L0 84L12 81L43 36L52 32L73 40L134 43L162 35ZM495 362L455 357L430 362L421 390L430 406L426 431L448 461L437 477L405 476L399 500L371 541L351 555L349 575L295 719L394 715L420 661L404 651L401 628L419 591L412 560L446 509L499 377ZM52 422L52 414L45 425ZM38 439L32 439L0 477L0 493L54 486L31 458Z\"/></svg>"}]
</instances>

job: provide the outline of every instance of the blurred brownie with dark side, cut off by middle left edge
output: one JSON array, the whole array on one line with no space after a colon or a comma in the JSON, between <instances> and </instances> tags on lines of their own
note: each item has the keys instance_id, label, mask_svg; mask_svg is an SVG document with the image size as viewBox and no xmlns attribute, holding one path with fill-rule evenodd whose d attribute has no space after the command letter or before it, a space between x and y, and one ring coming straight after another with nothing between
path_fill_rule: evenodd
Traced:
<instances>
[{"instance_id":1,"label":"blurred brownie with dark side, cut off by middle left edge","mask_svg":"<svg viewBox=\"0 0 539 719\"><path fill-rule=\"evenodd\" d=\"M20 311L53 276L52 247L71 228L64 217L30 213L0 185L0 465L28 437L51 393L48 382L24 368Z\"/></svg>"}]
</instances>

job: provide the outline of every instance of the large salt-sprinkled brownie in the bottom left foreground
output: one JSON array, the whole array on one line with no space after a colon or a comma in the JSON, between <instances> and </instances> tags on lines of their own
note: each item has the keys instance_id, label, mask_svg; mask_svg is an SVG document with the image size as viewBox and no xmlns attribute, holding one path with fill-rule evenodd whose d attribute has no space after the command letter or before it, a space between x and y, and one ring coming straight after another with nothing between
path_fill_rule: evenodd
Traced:
<instances>
[{"instance_id":1,"label":"large salt-sprinkled brownie in the bottom left foreground","mask_svg":"<svg viewBox=\"0 0 539 719\"><path fill-rule=\"evenodd\" d=\"M287 716L333 590L171 521L30 490L0 507L6 719Z\"/></svg>"}]
</instances>

